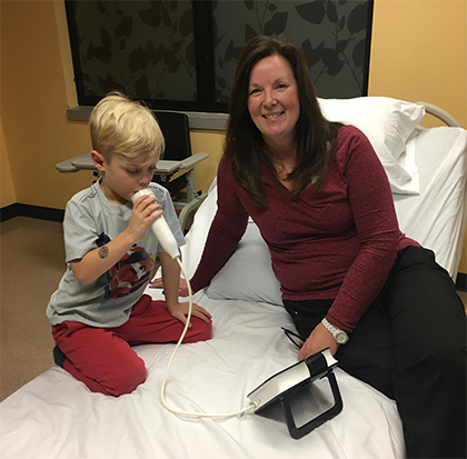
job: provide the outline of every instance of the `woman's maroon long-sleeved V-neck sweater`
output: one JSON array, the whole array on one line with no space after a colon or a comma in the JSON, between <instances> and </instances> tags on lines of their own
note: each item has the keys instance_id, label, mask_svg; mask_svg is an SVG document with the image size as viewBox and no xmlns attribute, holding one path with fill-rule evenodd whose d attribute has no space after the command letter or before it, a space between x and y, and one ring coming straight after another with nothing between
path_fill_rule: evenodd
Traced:
<instances>
[{"instance_id":1,"label":"woman's maroon long-sleeved V-neck sweater","mask_svg":"<svg viewBox=\"0 0 467 459\"><path fill-rule=\"evenodd\" d=\"M288 300L334 299L327 319L351 332L382 288L397 251L417 245L400 232L386 172L366 136L347 126L322 189L299 196L277 186L264 168L269 204L252 204L223 157L218 211L191 279L209 285L237 248L251 216L269 247L272 270ZM241 289L241 286L238 286Z\"/></svg>"}]
</instances>

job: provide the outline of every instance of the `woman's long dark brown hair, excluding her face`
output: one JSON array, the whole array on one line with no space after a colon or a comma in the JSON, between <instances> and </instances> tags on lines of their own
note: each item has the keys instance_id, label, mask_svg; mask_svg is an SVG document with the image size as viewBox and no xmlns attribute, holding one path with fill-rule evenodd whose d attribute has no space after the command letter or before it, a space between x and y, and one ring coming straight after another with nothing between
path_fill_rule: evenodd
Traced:
<instances>
[{"instance_id":1,"label":"woman's long dark brown hair, excluding her face","mask_svg":"<svg viewBox=\"0 0 467 459\"><path fill-rule=\"evenodd\" d=\"M248 111L248 89L251 70L269 56L285 58L297 81L300 116L296 124L297 156L287 180L292 182L294 194L299 194L311 182L321 187L327 164L337 146L340 124L322 116L304 52L280 38L255 37L245 47L237 64L230 92L230 117L227 124L225 154L230 160L234 176L250 201L267 206L262 187L261 164L277 179L261 132Z\"/></svg>"}]
</instances>

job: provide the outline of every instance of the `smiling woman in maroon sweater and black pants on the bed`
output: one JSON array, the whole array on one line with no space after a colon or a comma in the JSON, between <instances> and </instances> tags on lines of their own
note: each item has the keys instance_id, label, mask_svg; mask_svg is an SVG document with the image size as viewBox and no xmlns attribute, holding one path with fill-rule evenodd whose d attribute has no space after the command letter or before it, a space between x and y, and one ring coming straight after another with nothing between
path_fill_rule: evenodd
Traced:
<instances>
[{"instance_id":1,"label":"smiling woman in maroon sweater and black pants on the bed","mask_svg":"<svg viewBox=\"0 0 467 459\"><path fill-rule=\"evenodd\" d=\"M451 279L400 232L367 138L322 117L301 51L268 37L238 62L193 291L234 253L248 216L305 341L298 358L330 348L394 398L409 458L464 458L467 320Z\"/></svg>"}]
</instances>

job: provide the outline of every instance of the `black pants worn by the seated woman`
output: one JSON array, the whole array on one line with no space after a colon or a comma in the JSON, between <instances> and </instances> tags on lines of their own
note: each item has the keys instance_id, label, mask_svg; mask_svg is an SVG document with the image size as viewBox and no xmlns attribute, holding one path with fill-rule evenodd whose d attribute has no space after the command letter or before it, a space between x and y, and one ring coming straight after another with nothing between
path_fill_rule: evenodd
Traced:
<instances>
[{"instance_id":1,"label":"black pants worn by the seated woman","mask_svg":"<svg viewBox=\"0 0 467 459\"><path fill-rule=\"evenodd\" d=\"M306 339L332 300L284 303ZM349 375L396 400L409 459L467 457L467 319L430 250L398 253L380 295L336 358Z\"/></svg>"}]
</instances>

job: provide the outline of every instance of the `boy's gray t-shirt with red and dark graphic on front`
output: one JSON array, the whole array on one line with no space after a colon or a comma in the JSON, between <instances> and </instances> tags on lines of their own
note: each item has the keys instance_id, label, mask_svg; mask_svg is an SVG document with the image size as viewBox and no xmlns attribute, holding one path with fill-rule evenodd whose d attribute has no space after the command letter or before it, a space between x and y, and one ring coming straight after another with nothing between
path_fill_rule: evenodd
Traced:
<instances>
[{"instance_id":1,"label":"boy's gray t-shirt with red and dark graphic on front","mask_svg":"<svg viewBox=\"0 0 467 459\"><path fill-rule=\"evenodd\" d=\"M185 238L169 192L157 183L150 183L149 188L161 204L178 246L183 246ZM157 253L163 251L152 230L148 229L145 238L118 263L88 285L74 278L70 261L81 259L120 235L130 222L132 207L131 201L123 206L110 203L98 182L70 199L63 220L67 271L47 307L52 325L69 320L109 328L128 320L132 306L150 280Z\"/></svg>"}]
</instances>

